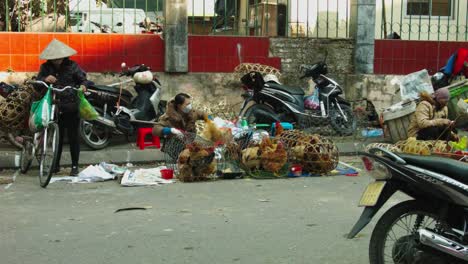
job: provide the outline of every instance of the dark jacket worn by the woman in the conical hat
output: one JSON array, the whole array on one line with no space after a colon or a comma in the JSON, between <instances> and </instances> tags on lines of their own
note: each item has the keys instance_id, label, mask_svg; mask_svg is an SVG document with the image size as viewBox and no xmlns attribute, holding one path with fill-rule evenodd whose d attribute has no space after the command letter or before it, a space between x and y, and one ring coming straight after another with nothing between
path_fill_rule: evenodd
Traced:
<instances>
[{"instance_id":1,"label":"dark jacket worn by the woman in the conical hat","mask_svg":"<svg viewBox=\"0 0 468 264\"><path fill-rule=\"evenodd\" d=\"M60 68L58 69L49 61L43 63L39 70L37 80L44 81L44 79L49 75L57 78L57 82L54 84L54 87L58 88L68 85L79 87L87 82L86 73L76 62L68 58L63 60ZM56 93L56 100L58 101L60 112L78 112L79 99L75 90L67 89L63 92Z\"/></svg>"}]
</instances>

